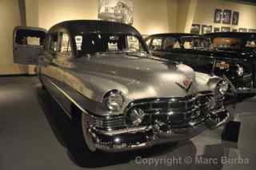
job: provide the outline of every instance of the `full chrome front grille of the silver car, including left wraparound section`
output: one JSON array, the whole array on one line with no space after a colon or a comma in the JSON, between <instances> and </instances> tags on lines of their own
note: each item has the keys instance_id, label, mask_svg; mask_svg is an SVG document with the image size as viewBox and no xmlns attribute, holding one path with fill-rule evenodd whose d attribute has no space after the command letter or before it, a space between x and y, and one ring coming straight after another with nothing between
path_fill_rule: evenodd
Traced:
<instances>
[{"instance_id":1,"label":"full chrome front grille of the silver car, including left wraparound section","mask_svg":"<svg viewBox=\"0 0 256 170\"><path fill-rule=\"evenodd\" d=\"M146 115L139 126L162 122L172 127L182 127L189 121L204 116L204 111L214 108L214 105L216 106L216 102L212 93L187 97L143 99L131 102L122 115L92 117L91 125L102 130L134 127L130 124L129 113L136 109L142 110Z\"/></svg>"}]
</instances>

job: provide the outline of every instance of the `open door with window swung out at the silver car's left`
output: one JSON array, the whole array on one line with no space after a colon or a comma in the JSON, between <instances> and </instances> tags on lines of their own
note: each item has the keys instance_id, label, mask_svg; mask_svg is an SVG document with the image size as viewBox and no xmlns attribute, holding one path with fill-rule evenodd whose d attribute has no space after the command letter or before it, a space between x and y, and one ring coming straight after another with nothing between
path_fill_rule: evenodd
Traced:
<instances>
[{"instance_id":1,"label":"open door with window swung out at the silver car's left","mask_svg":"<svg viewBox=\"0 0 256 170\"><path fill-rule=\"evenodd\" d=\"M18 26L13 34L14 63L38 65L38 57L44 53L46 30Z\"/></svg>"}]
</instances>

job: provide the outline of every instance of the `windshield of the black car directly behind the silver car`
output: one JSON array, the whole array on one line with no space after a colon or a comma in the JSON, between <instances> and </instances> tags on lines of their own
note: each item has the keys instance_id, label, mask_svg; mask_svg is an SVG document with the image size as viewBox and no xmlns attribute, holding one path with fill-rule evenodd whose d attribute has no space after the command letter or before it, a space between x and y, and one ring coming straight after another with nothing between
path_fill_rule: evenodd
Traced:
<instances>
[{"instance_id":1,"label":"windshield of the black car directly behind the silver car","mask_svg":"<svg viewBox=\"0 0 256 170\"><path fill-rule=\"evenodd\" d=\"M182 45L184 49L209 49L212 48L210 39L200 38L197 36L182 37Z\"/></svg>"}]
</instances>

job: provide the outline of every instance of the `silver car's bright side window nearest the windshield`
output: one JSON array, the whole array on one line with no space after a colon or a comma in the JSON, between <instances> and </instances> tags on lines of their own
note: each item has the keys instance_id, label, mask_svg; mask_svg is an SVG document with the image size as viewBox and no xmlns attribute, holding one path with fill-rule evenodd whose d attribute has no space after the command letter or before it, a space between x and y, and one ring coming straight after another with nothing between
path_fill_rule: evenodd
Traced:
<instances>
[{"instance_id":1,"label":"silver car's bright side window nearest the windshield","mask_svg":"<svg viewBox=\"0 0 256 170\"><path fill-rule=\"evenodd\" d=\"M58 52L63 54L71 53L70 37L66 33L59 33L60 48Z\"/></svg>"}]
</instances>

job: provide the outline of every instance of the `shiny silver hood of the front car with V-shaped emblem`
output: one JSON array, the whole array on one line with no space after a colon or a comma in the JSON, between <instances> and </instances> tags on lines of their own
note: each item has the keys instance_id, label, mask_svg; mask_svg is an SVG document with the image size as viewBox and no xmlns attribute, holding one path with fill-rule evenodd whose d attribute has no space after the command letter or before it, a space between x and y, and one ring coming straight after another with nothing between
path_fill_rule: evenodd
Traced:
<instances>
[{"instance_id":1,"label":"shiny silver hood of the front car with V-shaped emblem","mask_svg":"<svg viewBox=\"0 0 256 170\"><path fill-rule=\"evenodd\" d=\"M122 55L81 57L75 59L72 73L86 89L86 97L102 101L112 89L123 93L126 101L152 97L184 97L198 91L194 70L166 60ZM193 82L190 89L181 86Z\"/></svg>"}]
</instances>

